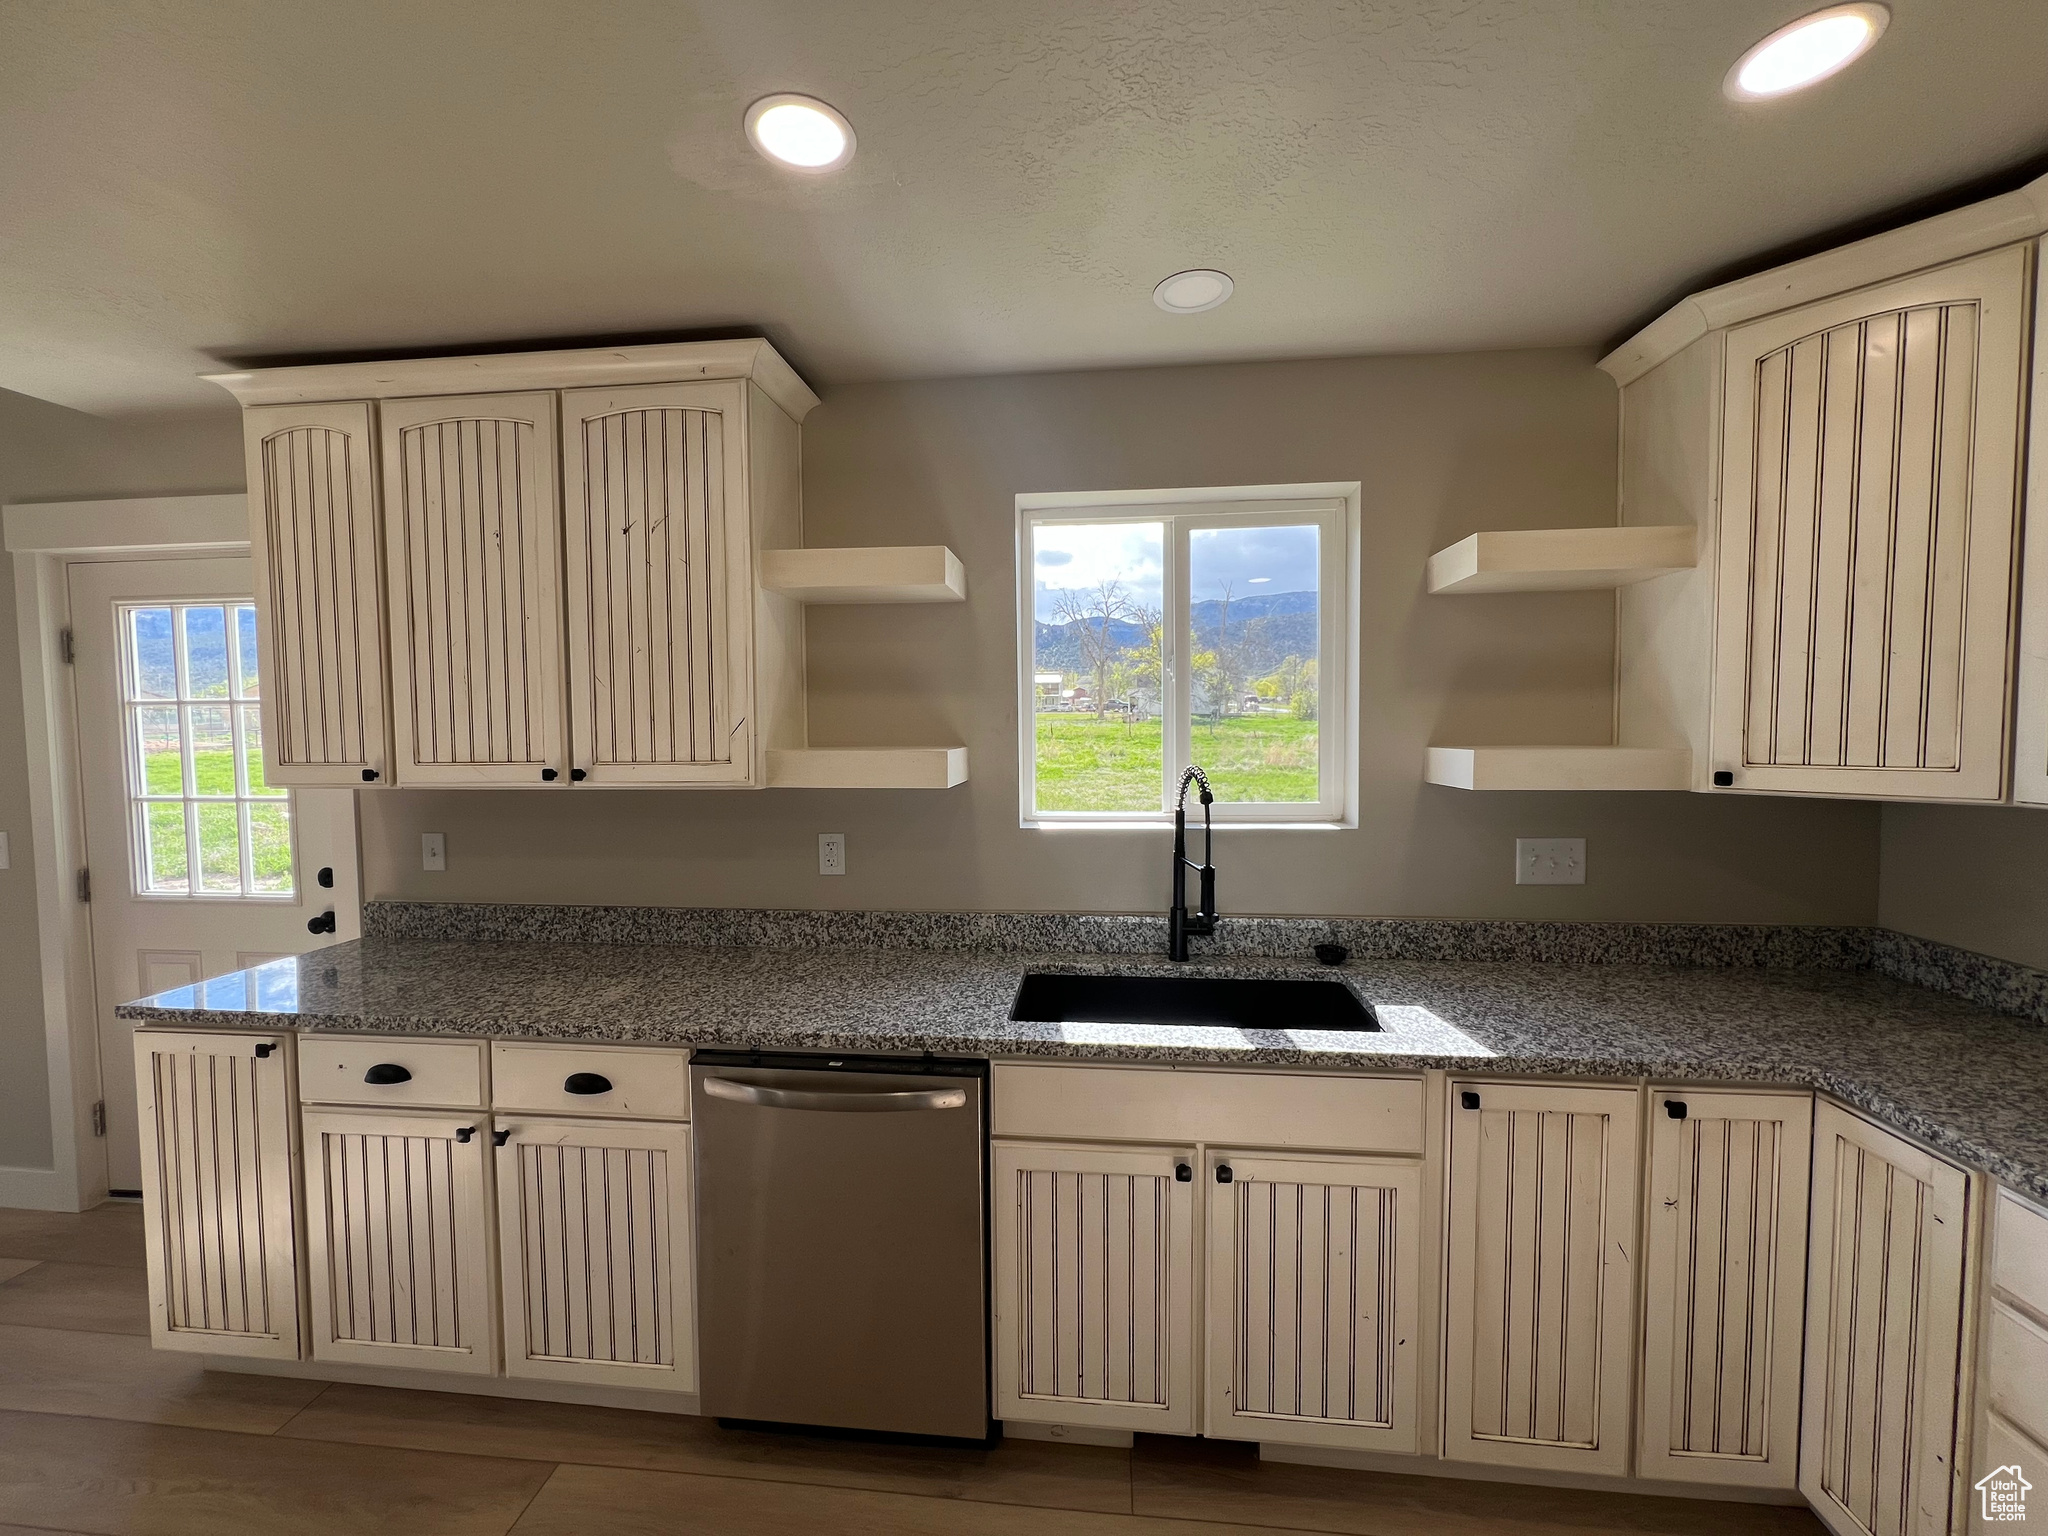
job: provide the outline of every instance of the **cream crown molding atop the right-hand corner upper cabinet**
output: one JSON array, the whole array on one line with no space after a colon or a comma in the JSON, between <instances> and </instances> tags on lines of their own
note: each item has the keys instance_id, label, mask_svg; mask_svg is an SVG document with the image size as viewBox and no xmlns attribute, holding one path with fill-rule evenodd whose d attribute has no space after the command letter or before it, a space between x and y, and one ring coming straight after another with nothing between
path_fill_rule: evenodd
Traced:
<instances>
[{"instance_id":1,"label":"cream crown molding atop the right-hand corner upper cabinet","mask_svg":"<svg viewBox=\"0 0 2048 1536\"><path fill-rule=\"evenodd\" d=\"M1679 299L1599 358L1599 367L1618 385L1634 383L1710 330L1884 283L2015 240L2034 240L2042 233L2048 233L2048 176L1966 209L1937 213L1903 229L1886 229L1880 236L1786 262L1755 276L1702 289Z\"/></svg>"}]
</instances>

